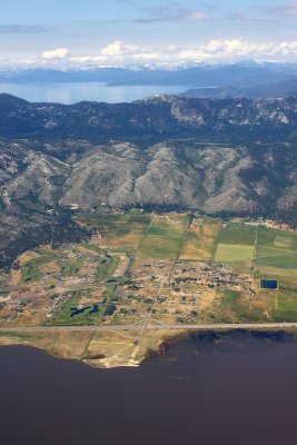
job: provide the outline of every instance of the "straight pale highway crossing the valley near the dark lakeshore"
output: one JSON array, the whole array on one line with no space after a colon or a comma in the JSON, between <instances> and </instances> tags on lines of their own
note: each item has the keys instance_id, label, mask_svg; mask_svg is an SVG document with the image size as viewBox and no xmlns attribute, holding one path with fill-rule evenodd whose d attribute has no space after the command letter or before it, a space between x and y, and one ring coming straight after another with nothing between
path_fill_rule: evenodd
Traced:
<instances>
[{"instance_id":1,"label":"straight pale highway crossing the valley near the dark lakeshore","mask_svg":"<svg viewBox=\"0 0 297 445\"><path fill-rule=\"evenodd\" d=\"M145 322L146 323L146 322ZM288 329L297 328L297 323L238 323L238 324L214 324L214 325L162 325L149 324L148 330L238 330L238 329ZM143 330L143 324L121 325L121 326L7 326L0 327L0 333L33 333L59 332L59 330L91 330L91 332L121 332L121 330Z\"/></svg>"}]
</instances>

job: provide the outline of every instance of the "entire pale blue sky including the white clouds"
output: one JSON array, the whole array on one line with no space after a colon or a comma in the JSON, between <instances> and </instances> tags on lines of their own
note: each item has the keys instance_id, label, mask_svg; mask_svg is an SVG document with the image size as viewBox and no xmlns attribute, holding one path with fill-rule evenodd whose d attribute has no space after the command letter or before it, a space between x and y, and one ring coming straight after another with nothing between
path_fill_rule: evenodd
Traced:
<instances>
[{"instance_id":1,"label":"entire pale blue sky including the white clouds","mask_svg":"<svg viewBox=\"0 0 297 445\"><path fill-rule=\"evenodd\" d=\"M297 60L297 0L0 0L1 68Z\"/></svg>"}]
</instances>

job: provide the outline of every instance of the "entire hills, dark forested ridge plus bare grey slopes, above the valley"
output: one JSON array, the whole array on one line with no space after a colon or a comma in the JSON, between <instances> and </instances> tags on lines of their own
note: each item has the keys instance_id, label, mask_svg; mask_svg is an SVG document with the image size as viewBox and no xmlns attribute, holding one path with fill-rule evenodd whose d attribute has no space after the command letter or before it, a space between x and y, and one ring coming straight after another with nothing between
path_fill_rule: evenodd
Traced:
<instances>
[{"instance_id":1,"label":"entire hills, dark forested ridge plus bare grey slopes, above the valley","mask_svg":"<svg viewBox=\"0 0 297 445\"><path fill-rule=\"evenodd\" d=\"M62 106L0 95L0 248L10 230L16 241L61 209L190 208L291 221L296 145L294 98Z\"/></svg>"}]
</instances>

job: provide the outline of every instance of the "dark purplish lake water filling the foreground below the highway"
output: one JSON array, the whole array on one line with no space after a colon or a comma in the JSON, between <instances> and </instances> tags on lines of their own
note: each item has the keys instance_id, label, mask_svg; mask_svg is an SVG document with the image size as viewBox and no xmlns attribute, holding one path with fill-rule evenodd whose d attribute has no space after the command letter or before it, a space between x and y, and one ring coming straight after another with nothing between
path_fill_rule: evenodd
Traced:
<instances>
[{"instance_id":1,"label":"dark purplish lake water filling the foreground below the highway","mask_svg":"<svg viewBox=\"0 0 297 445\"><path fill-rule=\"evenodd\" d=\"M192 336L139 368L0 348L3 445L297 443L297 344Z\"/></svg>"}]
</instances>

